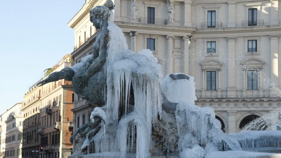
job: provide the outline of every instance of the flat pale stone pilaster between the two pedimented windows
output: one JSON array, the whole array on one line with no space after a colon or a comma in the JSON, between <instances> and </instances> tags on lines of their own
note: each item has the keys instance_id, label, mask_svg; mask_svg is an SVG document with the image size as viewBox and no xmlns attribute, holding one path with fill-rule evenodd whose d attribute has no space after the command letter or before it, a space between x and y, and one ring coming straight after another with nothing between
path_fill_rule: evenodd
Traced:
<instances>
[{"instance_id":1,"label":"flat pale stone pilaster between the two pedimented windows","mask_svg":"<svg viewBox=\"0 0 281 158\"><path fill-rule=\"evenodd\" d=\"M228 37L228 87L227 87L227 97L236 98L236 85L235 85L235 38Z\"/></svg>"}]
</instances>

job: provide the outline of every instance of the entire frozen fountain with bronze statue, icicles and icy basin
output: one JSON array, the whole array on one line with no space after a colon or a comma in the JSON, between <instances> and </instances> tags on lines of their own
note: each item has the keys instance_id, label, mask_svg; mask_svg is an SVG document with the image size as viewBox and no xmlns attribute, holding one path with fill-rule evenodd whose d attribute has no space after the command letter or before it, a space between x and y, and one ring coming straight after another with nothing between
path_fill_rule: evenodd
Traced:
<instances>
[{"instance_id":1,"label":"entire frozen fountain with bronze statue, icicles and icy basin","mask_svg":"<svg viewBox=\"0 0 281 158\"><path fill-rule=\"evenodd\" d=\"M107 1L90 12L91 22L100 29L92 54L38 83L72 81L75 92L95 106L91 121L71 136L80 143L69 158L274 155L242 151L251 147L242 141L252 137L223 133L214 109L195 105L193 77L170 74L162 80L161 66L150 50L128 50L122 30L112 22L113 8ZM267 140L273 144L279 135ZM255 136L263 139L263 133ZM275 144L281 146L280 141Z\"/></svg>"}]
</instances>

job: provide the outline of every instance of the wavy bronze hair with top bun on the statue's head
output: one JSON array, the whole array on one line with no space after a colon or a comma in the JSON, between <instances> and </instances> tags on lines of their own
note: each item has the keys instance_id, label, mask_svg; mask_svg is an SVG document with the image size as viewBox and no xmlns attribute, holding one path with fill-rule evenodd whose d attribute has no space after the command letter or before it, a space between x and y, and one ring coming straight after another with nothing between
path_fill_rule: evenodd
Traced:
<instances>
[{"instance_id":1,"label":"wavy bronze hair with top bun on the statue's head","mask_svg":"<svg viewBox=\"0 0 281 158\"><path fill-rule=\"evenodd\" d=\"M96 18L102 18L103 20L108 20L111 10L114 9L115 5L111 0L107 0L105 5L99 5L90 10L90 16Z\"/></svg>"}]
</instances>

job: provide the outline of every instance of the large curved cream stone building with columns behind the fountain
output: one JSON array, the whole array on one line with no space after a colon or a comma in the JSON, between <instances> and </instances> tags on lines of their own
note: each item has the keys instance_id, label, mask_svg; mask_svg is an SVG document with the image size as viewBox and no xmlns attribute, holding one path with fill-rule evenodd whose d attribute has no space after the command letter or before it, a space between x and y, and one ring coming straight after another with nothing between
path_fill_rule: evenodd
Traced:
<instances>
[{"instance_id":1,"label":"large curved cream stone building with columns behind the fountain","mask_svg":"<svg viewBox=\"0 0 281 158\"><path fill-rule=\"evenodd\" d=\"M114 22L123 30L129 49L152 50L164 76L194 76L196 104L213 107L226 133L238 132L281 106L280 1L176 0L172 22L168 1L113 2ZM132 10L135 2L137 13ZM96 30L89 11L104 3L86 0L68 23L75 34L71 53L75 63L92 52ZM92 110L75 95L74 130L89 120Z\"/></svg>"}]
</instances>

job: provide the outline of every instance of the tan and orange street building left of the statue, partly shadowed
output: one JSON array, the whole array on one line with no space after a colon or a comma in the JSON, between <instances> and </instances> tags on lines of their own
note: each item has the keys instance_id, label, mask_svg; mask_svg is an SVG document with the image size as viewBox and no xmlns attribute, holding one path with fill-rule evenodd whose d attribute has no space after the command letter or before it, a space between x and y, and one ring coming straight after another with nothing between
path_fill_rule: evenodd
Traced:
<instances>
[{"instance_id":1,"label":"tan and orange street building left of the statue, partly shadowed","mask_svg":"<svg viewBox=\"0 0 281 158\"><path fill-rule=\"evenodd\" d=\"M72 65L71 55L66 55L53 68L46 69L42 79ZM73 129L71 81L62 79L39 87L37 83L24 95L22 155L26 158L67 157L71 155L69 138Z\"/></svg>"}]
</instances>

